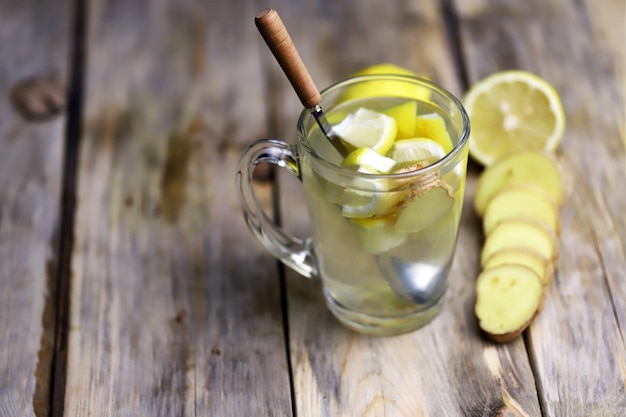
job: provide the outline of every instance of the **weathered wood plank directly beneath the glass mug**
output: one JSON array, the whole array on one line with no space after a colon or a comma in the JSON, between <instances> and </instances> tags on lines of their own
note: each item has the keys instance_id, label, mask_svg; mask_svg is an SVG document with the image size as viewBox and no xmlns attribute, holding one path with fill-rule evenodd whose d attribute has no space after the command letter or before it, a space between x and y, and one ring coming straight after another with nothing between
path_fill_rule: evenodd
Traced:
<instances>
[{"instance_id":1,"label":"weathered wood plank directly beneath the glass mug","mask_svg":"<svg viewBox=\"0 0 626 417\"><path fill-rule=\"evenodd\" d=\"M373 63L390 61L440 82L456 94L453 56L439 3L306 2L271 4L281 13L320 86ZM269 55L269 52L268 52ZM298 106L280 70L274 82L278 135L293 141ZM475 175L468 183L473 191ZM281 178L282 218L305 236L300 185ZM466 201L466 205L469 201ZM288 276L290 352L296 410L303 416L539 415L523 341L493 346L473 319L479 222L465 210L451 287L442 314L425 328L393 338L357 335L326 311L320 287Z\"/></svg>"}]
</instances>

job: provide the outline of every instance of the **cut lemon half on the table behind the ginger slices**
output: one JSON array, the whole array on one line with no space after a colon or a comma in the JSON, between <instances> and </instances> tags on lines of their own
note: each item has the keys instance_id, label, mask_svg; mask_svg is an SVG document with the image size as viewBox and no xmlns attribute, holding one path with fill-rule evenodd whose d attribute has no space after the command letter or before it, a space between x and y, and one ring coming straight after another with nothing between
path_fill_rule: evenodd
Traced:
<instances>
[{"instance_id":1,"label":"cut lemon half on the table behind the ginger slices","mask_svg":"<svg viewBox=\"0 0 626 417\"><path fill-rule=\"evenodd\" d=\"M494 73L472 86L463 99L470 117L469 153L489 166L520 151L554 151L565 131L558 93L526 71Z\"/></svg>"}]
</instances>

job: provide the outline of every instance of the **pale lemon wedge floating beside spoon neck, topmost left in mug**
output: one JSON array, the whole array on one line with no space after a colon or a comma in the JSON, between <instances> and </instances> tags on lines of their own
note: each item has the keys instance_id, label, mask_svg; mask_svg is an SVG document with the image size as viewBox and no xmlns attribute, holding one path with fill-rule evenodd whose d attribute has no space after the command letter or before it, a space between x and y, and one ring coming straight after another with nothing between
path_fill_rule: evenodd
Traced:
<instances>
[{"instance_id":1,"label":"pale lemon wedge floating beside spoon neck, topmost left in mug","mask_svg":"<svg viewBox=\"0 0 626 417\"><path fill-rule=\"evenodd\" d=\"M372 148L384 155L396 139L396 120L383 113L360 107L333 130L353 148Z\"/></svg>"}]
</instances>

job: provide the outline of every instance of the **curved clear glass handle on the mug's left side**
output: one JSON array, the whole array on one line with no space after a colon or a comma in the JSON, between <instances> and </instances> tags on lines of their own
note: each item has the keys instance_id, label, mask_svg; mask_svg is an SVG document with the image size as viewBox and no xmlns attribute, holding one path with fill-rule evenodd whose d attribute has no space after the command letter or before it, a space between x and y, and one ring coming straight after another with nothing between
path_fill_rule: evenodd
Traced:
<instances>
[{"instance_id":1,"label":"curved clear glass handle on the mug's left side","mask_svg":"<svg viewBox=\"0 0 626 417\"><path fill-rule=\"evenodd\" d=\"M307 278L318 278L317 259L310 239L299 239L277 226L263 211L252 186L252 173L261 163L287 169L300 179L297 149L285 142L264 139L250 145L237 166L237 192L248 227L256 238L285 265Z\"/></svg>"}]
</instances>

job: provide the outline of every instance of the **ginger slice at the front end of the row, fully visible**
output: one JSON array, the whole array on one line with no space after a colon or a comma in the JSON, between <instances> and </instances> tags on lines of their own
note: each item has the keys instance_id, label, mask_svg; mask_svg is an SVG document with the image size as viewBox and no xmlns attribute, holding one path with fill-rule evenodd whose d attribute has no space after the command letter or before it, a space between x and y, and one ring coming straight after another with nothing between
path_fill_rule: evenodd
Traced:
<instances>
[{"instance_id":1,"label":"ginger slice at the front end of the row, fully visible","mask_svg":"<svg viewBox=\"0 0 626 417\"><path fill-rule=\"evenodd\" d=\"M521 265L484 270L476 282L475 313L489 338L509 342L532 322L542 295L539 276Z\"/></svg>"}]
</instances>

